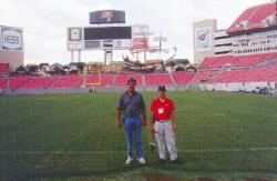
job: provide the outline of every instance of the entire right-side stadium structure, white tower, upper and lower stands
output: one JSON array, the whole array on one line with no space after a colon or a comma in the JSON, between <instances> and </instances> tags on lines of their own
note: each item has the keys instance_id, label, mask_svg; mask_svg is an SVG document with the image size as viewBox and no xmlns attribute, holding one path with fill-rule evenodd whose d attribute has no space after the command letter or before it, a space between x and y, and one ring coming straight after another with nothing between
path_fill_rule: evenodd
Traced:
<instances>
[{"instance_id":1,"label":"entire right-side stadium structure, white tower, upper and lower stands","mask_svg":"<svg viewBox=\"0 0 277 181\"><path fill-rule=\"evenodd\" d=\"M208 74L197 89L276 92L276 2L250 7L227 30L217 30L216 20L194 23L198 74Z\"/></svg>"}]
</instances>

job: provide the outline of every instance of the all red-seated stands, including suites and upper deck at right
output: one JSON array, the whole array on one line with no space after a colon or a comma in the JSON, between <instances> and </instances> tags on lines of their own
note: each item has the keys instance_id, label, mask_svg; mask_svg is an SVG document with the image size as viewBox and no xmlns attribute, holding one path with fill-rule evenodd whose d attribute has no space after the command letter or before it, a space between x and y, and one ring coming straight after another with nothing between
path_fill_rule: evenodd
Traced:
<instances>
[{"instance_id":1,"label":"all red-seated stands, including suites and upper deck at right","mask_svg":"<svg viewBox=\"0 0 277 181\"><path fill-rule=\"evenodd\" d=\"M130 78L135 78L142 90L165 84L174 89L254 91L257 87L277 90L277 19L276 4L265 3L245 10L226 30L217 31L214 56L204 57L198 72L105 72L101 74L45 77L9 76L9 64L0 63L0 89L8 93L17 90L122 90ZM226 48L223 49L224 46ZM227 51L224 51L227 50ZM224 53L225 52L225 53ZM205 54L205 51L204 51ZM130 64L130 61L125 62ZM100 63L102 64L102 63ZM135 64L135 63L133 63ZM121 63L121 67L123 64ZM102 72L102 71L101 71ZM91 73L91 72L90 72Z\"/></svg>"}]
</instances>

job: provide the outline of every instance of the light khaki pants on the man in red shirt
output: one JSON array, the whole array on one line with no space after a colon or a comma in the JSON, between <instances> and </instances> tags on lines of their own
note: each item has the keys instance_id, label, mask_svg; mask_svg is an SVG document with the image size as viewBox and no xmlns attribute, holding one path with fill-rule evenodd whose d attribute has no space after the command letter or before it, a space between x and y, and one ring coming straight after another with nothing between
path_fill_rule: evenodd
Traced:
<instances>
[{"instance_id":1,"label":"light khaki pants on the man in red shirt","mask_svg":"<svg viewBox=\"0 0 277 181\"><path fill-rule=\"evenodd\" d=\"M167 148L167 151L171 155L171 160L177 159L177 149L175 145L175 133L172 130L172 122L165 121L165 122L158 122L156 121L154 124L155 131L155 138L157 142L158 148L158 155L160 159L165 159L165 147Z\"/></svg>"}]
</instances>

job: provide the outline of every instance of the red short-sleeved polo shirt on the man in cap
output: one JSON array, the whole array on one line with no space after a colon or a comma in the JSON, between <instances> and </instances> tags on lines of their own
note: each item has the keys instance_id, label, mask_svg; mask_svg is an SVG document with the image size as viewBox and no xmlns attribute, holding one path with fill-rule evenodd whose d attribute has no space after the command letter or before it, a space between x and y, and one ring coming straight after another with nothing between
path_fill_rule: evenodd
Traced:
<instances>
[{"instance_id":1,"label":"red short-sleeved polo shirt on the man in cap","mask_svg":"<svg viewBox=\"0 0 277 181\"><path fill-rule=\"evenodd\" d=\"M174 110L174 102L168 98L165 98L164 101L157 98L151 103L151 111L154 111L154 118L156 120L170 120Z\"/></svg>"}]
</instances>

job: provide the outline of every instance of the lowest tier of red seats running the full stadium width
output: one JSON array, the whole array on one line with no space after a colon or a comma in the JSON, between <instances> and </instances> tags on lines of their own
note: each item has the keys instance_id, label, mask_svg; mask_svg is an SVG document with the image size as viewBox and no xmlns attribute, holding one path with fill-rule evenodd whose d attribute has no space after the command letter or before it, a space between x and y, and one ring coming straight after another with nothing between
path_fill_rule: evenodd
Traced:
<instances>
[{"instance_id":1,"label":"lowest tier of red seats running the full stadium width","mask_svg":"<svg viewBox=\"0 0 277 181\"><path fill-rule=\"evenodd\" d=\"M115 79L114 79L115 76ZM150 73L150 74L102 74L89 76L86 83L98 83L101 86L126 86L130 78L137 80L137 86L143 84L143 77L145 78L145 86L174 86L172 78L177 84L186 84L194 82L211 82L211 83L228 83L228 82L277 82L277 66L268 66L263 68L247 68L230 71L199 71L197 73L177 72L167 73ZM83 83L84 78L79 76L70 77L12 77L8 80L0 79L0 89L6 88L6 82L9 89L49 89L49 88L79 88ZM114 80L114 83L113 83Z\"/></svg>"}]
</instances>

